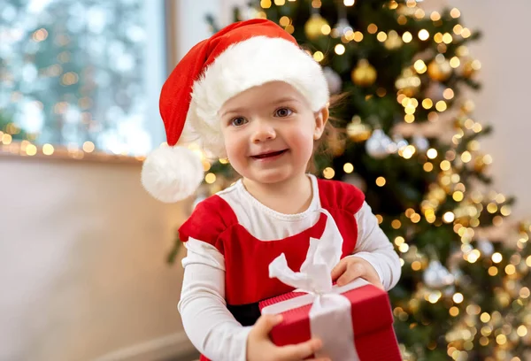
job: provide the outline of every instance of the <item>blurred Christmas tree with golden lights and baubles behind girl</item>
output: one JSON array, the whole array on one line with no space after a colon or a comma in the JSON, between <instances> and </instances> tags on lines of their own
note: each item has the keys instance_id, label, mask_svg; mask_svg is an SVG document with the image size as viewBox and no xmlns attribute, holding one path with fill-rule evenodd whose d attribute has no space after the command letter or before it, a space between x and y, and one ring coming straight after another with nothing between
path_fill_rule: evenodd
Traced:
<instances>
[{"instance_id":1,"label":"blurred Christmas tree with golden lights and baubles behind girl","mask_svg":"<svg viewBox=\"0 0 531 361\"><path fill-rule=\"evenodd\" d=\"M235 19L277 22L324 67L331 92L348 94L316 174L361 188L396 245L403 276L390 297L404 360L523 360L531 228L489 234L512 199L489 188L492 159L478 138L490 129L463 94L479 88L467 48L479 33L455 8L354 3L262 0ZM203 196L236 177L223 159L204 169Z\"/></svg>"}]
</instances>

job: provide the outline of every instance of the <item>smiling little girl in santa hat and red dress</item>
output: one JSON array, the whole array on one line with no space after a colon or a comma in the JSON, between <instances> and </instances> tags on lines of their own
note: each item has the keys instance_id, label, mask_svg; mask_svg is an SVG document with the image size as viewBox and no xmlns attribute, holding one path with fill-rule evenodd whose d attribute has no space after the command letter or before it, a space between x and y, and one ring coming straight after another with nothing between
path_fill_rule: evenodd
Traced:
<instances>
[{"instance_id":1,"label":"smiling little girl in santa hat and red dress","mask_svg":"<svg viewBox=\"0 0 531 361\"><path fill-rule=\"evenodd\" d=\"M328 101L319 64L264 19L198 43L162 88L167 145L146 158L144 187L174 202L199 186L200 159L178 141L227 157L242 176L197 204L179 230L188 250L179 311L203 360L302 360L321 347L319 340L276 347L268 334L281 317L260 317L258 302L293 289L270 279L268 265L284 253L300 269L310 238L329 223L322 209L342 236L333 280L342 286L364 278L389 290L400 277L399 258L363 193L306 173Z\"/></svg>"}]
</instances>

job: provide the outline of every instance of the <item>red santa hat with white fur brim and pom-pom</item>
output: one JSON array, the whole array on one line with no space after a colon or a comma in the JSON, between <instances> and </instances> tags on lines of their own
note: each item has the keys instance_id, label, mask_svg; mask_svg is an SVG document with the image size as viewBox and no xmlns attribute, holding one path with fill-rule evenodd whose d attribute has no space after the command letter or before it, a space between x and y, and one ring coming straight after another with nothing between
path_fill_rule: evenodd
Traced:
<instances>
[{"instance_id":1,"label":"red santa hat with white fur brim and pom-pom","mask_svg":"<svg viewBox=\"0 0 531 361\"><path fill-rule=\"evenodd\" d=\"M142 166L142 185L151 196L170 203L194 194L204 168L196 152L184 145L194 142L212 157L226 157L219 109L231 97L269 81L289 83L312 111L328 102L320 65L272 21L231 24L189 50L160 94L167 142Z\"/></svg>"}]
</instances>

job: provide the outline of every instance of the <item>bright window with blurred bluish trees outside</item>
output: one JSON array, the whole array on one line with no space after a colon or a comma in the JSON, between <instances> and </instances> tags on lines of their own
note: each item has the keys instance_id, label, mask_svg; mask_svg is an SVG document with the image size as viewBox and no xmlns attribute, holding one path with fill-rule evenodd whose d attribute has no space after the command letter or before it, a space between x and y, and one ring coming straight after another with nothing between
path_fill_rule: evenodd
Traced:
<instances>
[{"instance_id":1,"label":"bright window with blurred bluish trees outside","mask_svg":"<svg viewBox=\"0 0 531 361\"><path fill-rule=\"evenodd\" d=\"M146 154L165 139L164 27L162 0L4 0L0 130Z\"/></svg>"}]
</instances>

